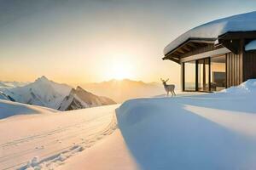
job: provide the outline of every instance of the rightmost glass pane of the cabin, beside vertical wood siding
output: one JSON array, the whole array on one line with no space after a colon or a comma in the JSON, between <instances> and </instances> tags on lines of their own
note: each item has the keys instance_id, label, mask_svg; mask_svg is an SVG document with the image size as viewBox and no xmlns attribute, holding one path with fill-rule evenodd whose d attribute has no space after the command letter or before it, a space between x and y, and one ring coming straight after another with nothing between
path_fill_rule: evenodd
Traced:
<instances>
[{"instance_id":1,"label":"rightmost glass pane of the cabin, beside vertical wood siding","mask_svg":"<svg viewBox=\"0 0 256 170\"><path fill-rule=\"evenodd\" d=\"M226 56L211 58L211 91L226 88Z\"/></svg>"}]
</instances>

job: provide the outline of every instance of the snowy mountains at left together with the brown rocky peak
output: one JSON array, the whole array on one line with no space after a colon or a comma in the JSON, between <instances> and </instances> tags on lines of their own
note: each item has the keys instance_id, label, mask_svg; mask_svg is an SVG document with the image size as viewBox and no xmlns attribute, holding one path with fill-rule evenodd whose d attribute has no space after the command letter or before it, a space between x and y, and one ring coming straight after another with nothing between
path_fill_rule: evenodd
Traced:
<instances>
[{"instance_id":1,"label":"snowy mountains at left together with the brown rocky peak","mask_svg":"<svg viewBox=\"0 0 256 170\"><path fill-rule=\"evenodd\" d=\"M61 111L115 104L112 99L90 94L79 87L73 89L67 84L50 81L44 76L23 87L1 88L0 92L0 99L40 105Z\"/></svg>"}]
</instances>

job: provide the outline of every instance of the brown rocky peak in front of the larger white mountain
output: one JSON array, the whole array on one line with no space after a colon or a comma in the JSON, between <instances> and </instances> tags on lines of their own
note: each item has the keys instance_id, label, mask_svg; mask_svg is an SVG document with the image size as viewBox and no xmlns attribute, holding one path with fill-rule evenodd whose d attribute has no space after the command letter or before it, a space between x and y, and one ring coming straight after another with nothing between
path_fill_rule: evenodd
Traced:
<instances>
[{"instance_id":1,"label":"brown rocky peak in front of the larger white mountain","mask_svg":"<svg viewBox=\"0 0 256 170\"><path fill-rule=\"evenodd\" d=\"M69 95L63 99L58 110L71 111L77 109L84 109L97 105L113 105L116 104L112 99L107 97L97 96L85 91L83 88L72 88Z\"/></svg>"}]
</instances>

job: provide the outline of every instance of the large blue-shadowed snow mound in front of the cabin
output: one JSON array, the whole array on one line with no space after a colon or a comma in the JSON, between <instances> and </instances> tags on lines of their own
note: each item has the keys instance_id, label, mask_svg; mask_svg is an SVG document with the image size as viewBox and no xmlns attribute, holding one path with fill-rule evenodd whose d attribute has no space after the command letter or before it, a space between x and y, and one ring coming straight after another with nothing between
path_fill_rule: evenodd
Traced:
<instances>
[{"instance_id":1,"label":"large blue-shadowed snow mound in front of the cabin","mask_svg":"<svg viewBox=\"0 0 256 170\"><path fill-rule=\"evenodd\" d=\"M132 99L119 128L141 169L254 169L256 80L221 93Z\"/></svg>"}]
</instances>

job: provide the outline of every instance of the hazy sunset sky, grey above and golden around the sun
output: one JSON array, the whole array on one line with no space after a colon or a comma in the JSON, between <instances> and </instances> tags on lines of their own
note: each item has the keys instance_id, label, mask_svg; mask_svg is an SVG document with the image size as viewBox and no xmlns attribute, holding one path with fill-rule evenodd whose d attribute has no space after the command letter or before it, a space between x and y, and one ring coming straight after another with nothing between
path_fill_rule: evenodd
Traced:
<instances>
[{"instance_id":1,"label":"hazy sunset sky, grey above and golden around the sun","mask_svg":"<svg viewBox=\"0 0 256 170\"><path fill-rule=\"evenodd\" d=\"M0 80L178 84L180 65L161 59L169 42L253 10L253 0L0 0Z\"/></svg>"}]
</instances>

